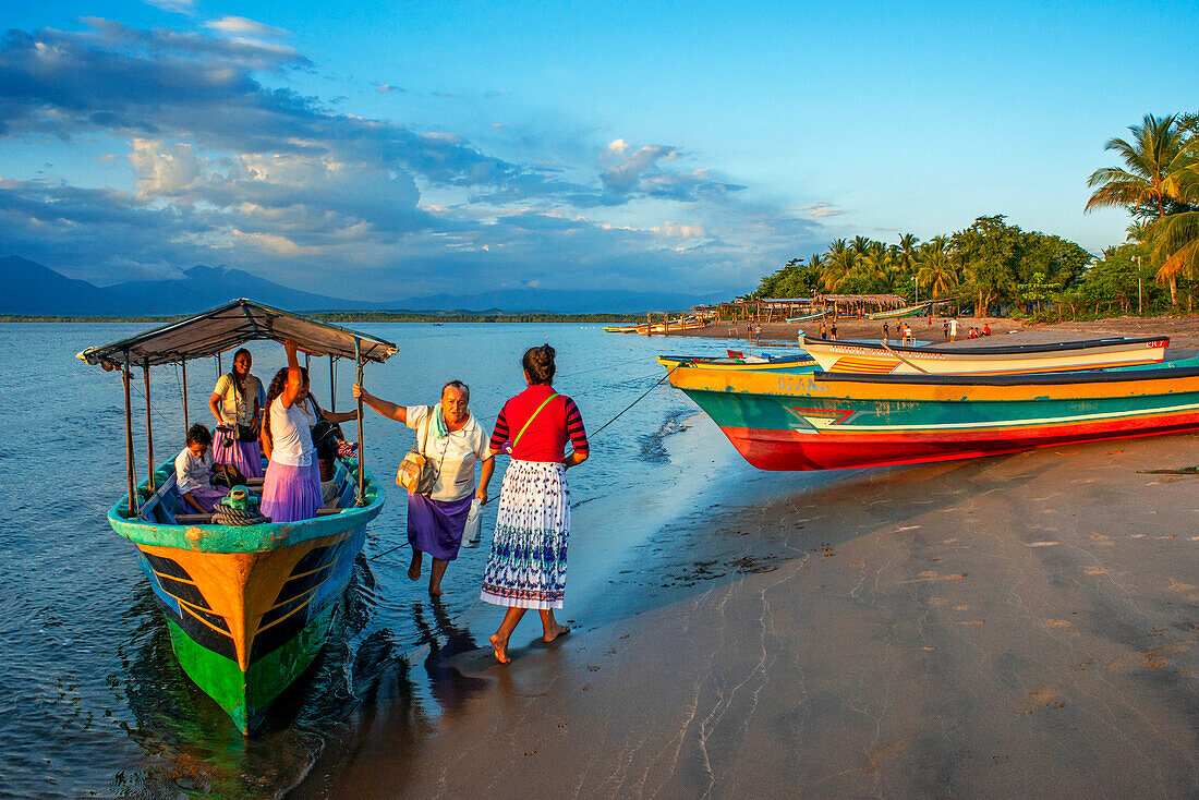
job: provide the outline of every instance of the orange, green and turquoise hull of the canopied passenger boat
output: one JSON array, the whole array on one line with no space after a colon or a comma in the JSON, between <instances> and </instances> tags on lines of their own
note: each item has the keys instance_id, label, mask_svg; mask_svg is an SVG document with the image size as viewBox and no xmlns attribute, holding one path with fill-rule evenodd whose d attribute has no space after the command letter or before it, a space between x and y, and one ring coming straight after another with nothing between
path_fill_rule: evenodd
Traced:
<instances>
[{"instance_id":1,"label":"orange, green and turquoise hull of the canopied passenger boat","mask_svg":"<svg viewBox=\"0 0 1199 800\"><path fill-rule=\"evenodd\" d=\"M109 521L137 546L180 666L252 732L320 652L381 492L372 482L364 507L246 527L127 519L123 505Z\"/></svg>"}]
</instances>

